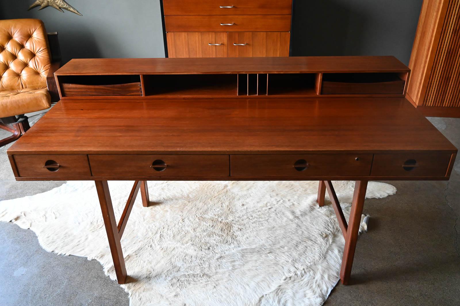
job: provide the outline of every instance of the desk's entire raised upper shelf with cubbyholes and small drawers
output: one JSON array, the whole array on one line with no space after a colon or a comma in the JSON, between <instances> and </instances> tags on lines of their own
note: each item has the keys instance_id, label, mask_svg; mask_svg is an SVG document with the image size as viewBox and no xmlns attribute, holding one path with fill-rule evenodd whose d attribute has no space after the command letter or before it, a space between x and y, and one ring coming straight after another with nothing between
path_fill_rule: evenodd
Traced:
<instances>
[{"instance_id":1,"label":"desk's entire raised upper shelf with cubbyholes and small drawers","mask_svg":"<svg viewBox=\"0 0 460 306\"><path fill-rule=\"evenodd\" d=\"M73 59L56 72L61 98L404 96L395 57Z\"/></svg>"}]
</instances>

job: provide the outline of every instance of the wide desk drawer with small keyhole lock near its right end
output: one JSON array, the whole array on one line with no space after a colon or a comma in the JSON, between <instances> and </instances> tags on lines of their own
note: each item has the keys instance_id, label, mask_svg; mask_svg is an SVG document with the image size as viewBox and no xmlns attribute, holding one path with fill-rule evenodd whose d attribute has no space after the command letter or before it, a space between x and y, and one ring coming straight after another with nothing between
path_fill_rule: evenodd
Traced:
<instances>
[{"instance_id":1,"label":"wide desk drawer with small keyhole lock near its right end","mask_svg":"<svg viewBox=\"0 0 460 306\"><path fill-rule=\"evenodd\" d=\"M231 155L231 176L368 176L372 154Z\"/></svg>"}]
</instances>

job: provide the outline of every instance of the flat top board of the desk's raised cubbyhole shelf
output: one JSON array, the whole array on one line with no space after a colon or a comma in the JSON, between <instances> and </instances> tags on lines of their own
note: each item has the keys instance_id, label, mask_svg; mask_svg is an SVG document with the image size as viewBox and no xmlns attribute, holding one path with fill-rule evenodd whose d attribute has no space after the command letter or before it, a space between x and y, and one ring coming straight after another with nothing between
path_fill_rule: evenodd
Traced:
<instances>
[{"instance_id":1,"label":"flat top board of the desk's raised cubbyhole shelf","mask_svg":"<svg viewBox=\"0 0 460 306\"><path fill-rule=\"evenodd\" d=\"M247 74L247 73L408 73L392 56L369 57L227 57L72 59L60 75ZM59 78L58 78L59 79Z\"/></svg>"}]
</instances>

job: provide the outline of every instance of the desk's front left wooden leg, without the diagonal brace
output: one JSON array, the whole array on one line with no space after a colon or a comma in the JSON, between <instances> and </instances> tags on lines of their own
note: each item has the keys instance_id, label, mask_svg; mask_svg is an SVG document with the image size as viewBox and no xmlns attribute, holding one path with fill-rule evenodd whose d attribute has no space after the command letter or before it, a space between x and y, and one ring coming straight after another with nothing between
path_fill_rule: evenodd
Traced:
<instances>
[{"instance_id":1,"label":"desk's front left wooden leg, without the diagonal brace","mask_svg":"<svg viewBox=\"0 0 460 306\"><path fill-rule=\"evenodd\" d=\"M112 199L110 198L107 181L94 181L98 191L99 204L101 204L102 217L104 218L105 230L109 239L110 252L114 261L116 278L119 284L126 283L127 272L125 259L121 250L120 234L115 220Z\"/></svg>"}]
</instances>

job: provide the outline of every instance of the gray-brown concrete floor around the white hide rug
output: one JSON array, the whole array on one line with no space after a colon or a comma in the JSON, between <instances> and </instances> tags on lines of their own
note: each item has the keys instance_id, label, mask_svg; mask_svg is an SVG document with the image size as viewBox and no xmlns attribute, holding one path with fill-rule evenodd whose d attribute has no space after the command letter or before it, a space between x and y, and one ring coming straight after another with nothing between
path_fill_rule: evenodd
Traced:
<instances>
[{"instance_id":1,"label":"gray-brown concrete floor around the white hide rug","mask_svg":"<svg viewBox=\"0 0 460 306\"><path fill-rule=\"evenodd\" d=\"M35 122L38 117L31 118ZM460 119L429 118L456 147ZM52 132L52 131L50 131ZM6 133L0 132L0 138ZM33 195L63 182L17 182L0 148L0 199ZM350 286L325 305L460 304L460 158L446 181L393 181L396 195L368 199ZM47 253L35 234L0 222L0 305L129 305L97 261Z\"/></svg>"}]
</instances>

